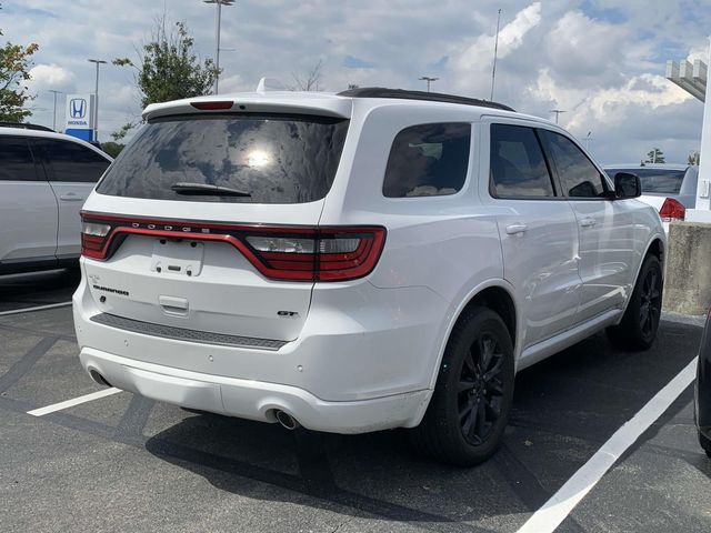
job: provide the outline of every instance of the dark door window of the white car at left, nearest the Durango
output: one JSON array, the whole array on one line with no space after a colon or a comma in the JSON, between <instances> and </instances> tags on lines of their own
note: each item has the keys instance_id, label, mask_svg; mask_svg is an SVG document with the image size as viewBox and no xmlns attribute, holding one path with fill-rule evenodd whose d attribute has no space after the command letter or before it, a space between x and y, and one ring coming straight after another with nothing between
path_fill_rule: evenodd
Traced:
<instances>
[{"instance_id":1,"label":"dark door window of the white car at left, nearest the Durango","mask_svg":"<svg viewBox=\"0 0 711 533\"><path fill-rule=\"evenodd\" d=\"M50 181L99 181L109 161L102 155L71 141L34 139L43 153Z\"/></svg>"}]
</instances>

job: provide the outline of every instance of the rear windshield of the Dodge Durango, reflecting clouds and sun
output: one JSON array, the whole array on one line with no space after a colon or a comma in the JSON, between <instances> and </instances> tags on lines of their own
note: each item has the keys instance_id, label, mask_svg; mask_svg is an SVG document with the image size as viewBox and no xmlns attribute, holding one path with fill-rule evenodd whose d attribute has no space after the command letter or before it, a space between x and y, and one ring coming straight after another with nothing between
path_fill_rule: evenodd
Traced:
<instances>
[{"instance_id":1,"label":"rear windshield of the Dodge Durango, reflecting clouds and sun","mask_svg":"<svg viewBox=\"0 0 711 533\"><path fill-rule=\"evenodd\" d=\"M200 202L312 202L333 183L347 131L348 120L318 117L159 119L121 152L97 192ZM239 195L206 193L201 184Z\"/></svg>"}]
</instances>

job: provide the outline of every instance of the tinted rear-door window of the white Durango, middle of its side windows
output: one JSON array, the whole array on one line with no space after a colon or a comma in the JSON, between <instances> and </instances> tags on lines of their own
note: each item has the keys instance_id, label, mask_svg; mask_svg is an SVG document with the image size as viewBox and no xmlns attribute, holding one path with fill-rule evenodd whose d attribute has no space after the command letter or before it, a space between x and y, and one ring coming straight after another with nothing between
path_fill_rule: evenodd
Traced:
<instances>
[{"instance_id":1,"label":"tinted rear-door window of the white Durango, middle of its side windows","mask_svg":"<svg viewBox=\"0 0 711 533\"><path fill-rule=\"evenodd\" d=\"M494 197L555 195L543 151L531 128L491 124L489 164Z\"/></svg>"}]
</instances>

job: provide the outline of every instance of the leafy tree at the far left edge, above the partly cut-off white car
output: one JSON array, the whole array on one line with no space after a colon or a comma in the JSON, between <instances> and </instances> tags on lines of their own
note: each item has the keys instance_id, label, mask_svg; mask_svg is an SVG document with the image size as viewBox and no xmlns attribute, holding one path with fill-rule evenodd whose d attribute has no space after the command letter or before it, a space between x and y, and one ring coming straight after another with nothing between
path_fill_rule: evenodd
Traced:
<instances>
[{"instance_id":1,"label":"leafy tree at the far left edge, above the partly cut-off white car","mask_svg":"<svg viewBox=\"0 0 711 533\"><path fill-rule=\"evenodd\" d=\"M30 58L38 49L34 42L27 47L7 42L0 48L0 121L23 122L32 114L24 104L34 100L27 82L32 66Z\"/></svg>"}]
</instances>

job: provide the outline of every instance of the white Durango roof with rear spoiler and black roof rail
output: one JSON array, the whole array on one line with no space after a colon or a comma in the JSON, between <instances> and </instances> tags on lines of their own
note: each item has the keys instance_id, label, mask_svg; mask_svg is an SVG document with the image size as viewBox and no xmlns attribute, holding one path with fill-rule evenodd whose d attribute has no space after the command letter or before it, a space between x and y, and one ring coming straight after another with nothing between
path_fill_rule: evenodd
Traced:
<instances>
[{"instance_id":1,"label":"white Durango roof with rear spoiler and black roof rail","mask_svg":"<svg viewBox=\"0 0 711 533\"><path fill-rule=\"evenodd\" d=\"M200 110L194 105L209 102L232 102L228 108L229 112L278 112L294 114L314 114L336 118L350 119L353 107L358 103L361 109L383 105L412 105L433 107L452 105L459 107L463 112L470 114L478 112L481 115L502 115L509 118L527 119L541 124L554 125L552 122L540 117L527 115L511 110L508 105L475 100L452 94L428 93L421 91L404 91L401 89L363 88L341 93L312 92L312 91L263 91L263 92L237 92L230 94L218 94L173 100L170 102L152 103L143 110L143 119L151 120L159 117L176 114L193 114ZM227 111L227 109L226 109Z\"/></svg>"}]
</instances>

